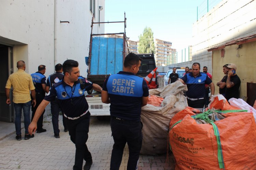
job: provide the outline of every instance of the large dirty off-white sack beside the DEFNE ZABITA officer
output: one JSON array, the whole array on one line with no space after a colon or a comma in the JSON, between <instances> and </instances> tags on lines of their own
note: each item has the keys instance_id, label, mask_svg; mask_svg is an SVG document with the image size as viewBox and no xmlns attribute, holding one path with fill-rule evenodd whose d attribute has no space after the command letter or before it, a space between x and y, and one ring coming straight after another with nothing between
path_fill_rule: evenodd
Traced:
<instances>
[{"instance_id":1,"label":"large dirty off-white sack beside the DEFNE ZABITA officer","mask_svg":"<svg viewBox=\"0 0 256 170\"><path fill-rule=\"evenodd\" d=\"M176 113L187 106L187 99L183 95L185 91L187 86L180 81L149 90L150 95L160 96L164 100L160 106L147 104L141 108L143 123L141 154L157 155L167 152L169 122Z\"/></svg>"}]
</instances>

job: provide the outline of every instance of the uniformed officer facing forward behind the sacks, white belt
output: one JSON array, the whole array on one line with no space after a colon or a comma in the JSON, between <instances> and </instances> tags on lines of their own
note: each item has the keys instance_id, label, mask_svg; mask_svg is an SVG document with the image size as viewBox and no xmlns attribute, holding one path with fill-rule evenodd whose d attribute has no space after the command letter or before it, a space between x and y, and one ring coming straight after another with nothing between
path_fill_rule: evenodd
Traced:
<instances>
[{"instance_id":1,"label":"uniformed officer facing forward behind the sacks, white belt","mask_svg":"<svg viewBox=\"0 0 256 170\"><path fill-rule=\"evenodd\" d=\"M192 72L185 74L179 81L187 85L187 103L189 107L202 110L205 104L205 84L211 89L211 96L214 95L214 84L206 73L200 72L200 64L193 63Z\"/></svg>"}]
</instances>

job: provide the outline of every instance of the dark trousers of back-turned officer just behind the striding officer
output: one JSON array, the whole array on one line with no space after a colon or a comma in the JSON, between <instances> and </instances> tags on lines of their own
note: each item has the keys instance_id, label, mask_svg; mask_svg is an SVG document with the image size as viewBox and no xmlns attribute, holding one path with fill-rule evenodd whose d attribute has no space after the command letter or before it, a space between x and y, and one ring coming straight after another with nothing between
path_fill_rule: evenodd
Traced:
<instances>
[{"instance_id":1,"label":"dark trousers of back-turned officer just behind the striding officer","mask_svg":"<svg viewBox=\"0 0 256 170\"><path fill-rule=\"evenodd\" d=\"M59 134L59 111L60 111L60 103L59 103L59 100L55 98L55 100L51 102L52 123L53 123L53 131L55 135ZM64 129L68 129L64 119L63 112L62 112L62 123L63 123Z\"/></svg>"}]
</instances>

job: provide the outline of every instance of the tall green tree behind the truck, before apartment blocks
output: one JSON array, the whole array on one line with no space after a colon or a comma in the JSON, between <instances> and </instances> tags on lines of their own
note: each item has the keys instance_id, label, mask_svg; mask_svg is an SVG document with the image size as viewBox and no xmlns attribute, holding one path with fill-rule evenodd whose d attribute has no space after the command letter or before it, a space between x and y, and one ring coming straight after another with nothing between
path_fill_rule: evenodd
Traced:
<instances>
[{"instance_id":1,"label":"tall green tree behind the truck, before apartment blocks","mask_svg":"<svg viewBox=\"0 0 256 170\"><path fill-rule=\"evenodd\" d=\"M143 31L143 35L139 36L139 47L138 52L140 54L145 53L155 53L155 43L153 32L150 27L145 27Z\"/></svg>"}]
</instances>

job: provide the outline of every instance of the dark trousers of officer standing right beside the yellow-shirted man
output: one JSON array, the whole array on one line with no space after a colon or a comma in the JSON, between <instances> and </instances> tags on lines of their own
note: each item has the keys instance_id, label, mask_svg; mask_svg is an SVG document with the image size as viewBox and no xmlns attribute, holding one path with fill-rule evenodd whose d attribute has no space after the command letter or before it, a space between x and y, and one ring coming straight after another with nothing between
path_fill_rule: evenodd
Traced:
<instances>
[{"instance_id":1,"label":"dark trousers of officer standing right beside the yellow-shirted man","mask_svg":"<svg viewBox=\"0 0 256 170\"><path fill-rule=\"evenodd\" d=\"M35 104L35 107L33 107L33 105L31 106L31 111L32 111L31 122L34 118L35 111L37 110L39 104L44 100L44 97L45 97L45 93L35 93L35 101L37 103ZM43 129L44 112L45 112L45 109L44 109L42 115L39 117L39 119L37 121L37 130L42 130Z\"/></svg>"}]
</instances>

